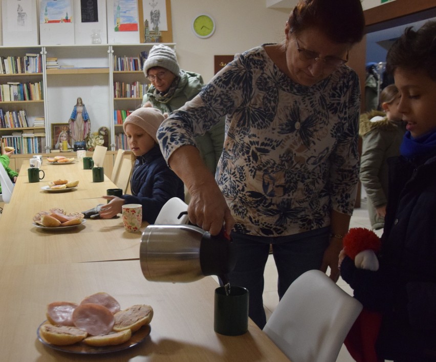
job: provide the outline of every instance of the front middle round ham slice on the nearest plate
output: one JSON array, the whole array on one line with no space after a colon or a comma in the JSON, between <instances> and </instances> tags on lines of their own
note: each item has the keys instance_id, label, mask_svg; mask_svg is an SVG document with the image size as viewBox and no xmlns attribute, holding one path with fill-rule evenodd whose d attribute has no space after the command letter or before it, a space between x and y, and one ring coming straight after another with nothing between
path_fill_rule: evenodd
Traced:
<instances>
[{"instance_id":1,"label":"front middle round ham slice on the nearest plate","mask_svg":"<svg viewBox=\"0 0 436 362\"><path fill-rule=\"evenodd\" d=\"M91 335L103 335L112 331L115 317L106 307L85 303L74 309L73 323Z\"/></svg>"}]
</instances>

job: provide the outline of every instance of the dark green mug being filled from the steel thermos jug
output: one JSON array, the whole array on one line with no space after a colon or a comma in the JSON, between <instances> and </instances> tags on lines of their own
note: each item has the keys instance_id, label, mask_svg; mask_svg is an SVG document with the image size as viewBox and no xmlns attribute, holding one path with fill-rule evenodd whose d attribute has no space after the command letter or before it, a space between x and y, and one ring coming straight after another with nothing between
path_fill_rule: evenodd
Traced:
<instances>
[{"instance_id":1,"label":"dark green mug being filled from the steel thermos jug","mask_svg":"<svg viewBox=\"0 0 436 362\"><path fill-rule=\"evenodd\" d=\"M230 286L215 289L213 330L224 335L241 335L248 330L248 289Z\"/></svg>"}]
</instances>

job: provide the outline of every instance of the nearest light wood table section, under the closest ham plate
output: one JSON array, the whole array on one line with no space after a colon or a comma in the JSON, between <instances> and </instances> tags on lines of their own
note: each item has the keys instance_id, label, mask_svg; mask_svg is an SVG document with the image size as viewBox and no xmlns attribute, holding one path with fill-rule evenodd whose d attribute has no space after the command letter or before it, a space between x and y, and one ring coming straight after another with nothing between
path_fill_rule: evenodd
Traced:
<instances>
[{"instance_id":1,"label":"nearest light wood table section, under the closest ham plate","mask_svg":"<svg viewBox=\"0 0 436 362\"><path fill-rule=\"evenodd\" d=\"M213 330L214 289L210 277L194 283L148 282L139 261L45 264L0 267L0 349L5 361L95 361L95 355L60 352L37 339L46 306L80 303L104 291L125 309L147 304L154 309L143 342L100 355L101 361L288 361L251 320L248 332L224 336Z\"/></svg>"}]
</instances>

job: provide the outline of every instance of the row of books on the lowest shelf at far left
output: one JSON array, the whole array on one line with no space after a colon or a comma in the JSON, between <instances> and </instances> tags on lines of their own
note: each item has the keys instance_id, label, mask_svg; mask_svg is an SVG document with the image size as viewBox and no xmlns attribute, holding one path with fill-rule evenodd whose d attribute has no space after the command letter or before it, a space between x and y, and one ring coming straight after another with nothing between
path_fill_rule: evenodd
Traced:
<instances>
[{"instance_id":1,"label":"row of books on the lowest shelf at far left","mask_svg":"<svg viewBox=\"0 0 436 362\"><path fill-rule=\"evenodd\" d=\"M5 146L15 148L14 154L38 154L46 151L45 133L13 132L12 135L2 136L1 142Z\"/></svg>"}]
</instances>

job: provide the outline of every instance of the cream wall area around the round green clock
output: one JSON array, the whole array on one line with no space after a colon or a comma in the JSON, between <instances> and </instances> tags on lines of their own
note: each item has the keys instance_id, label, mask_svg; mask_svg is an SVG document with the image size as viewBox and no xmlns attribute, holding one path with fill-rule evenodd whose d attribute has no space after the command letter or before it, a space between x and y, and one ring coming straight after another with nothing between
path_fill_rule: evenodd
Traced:
<instances>
[{"instance_id":1,"label":"cream wall area around the round green clock","mask_svg":"<svg viewBox=\"0 0 436 362\"><path fill-rule=\"evenodd\" d=\"M205 82L214 74L213 56L241 53L285 37L290 9L268 9L265 0L171 0L172 36L180 67L198 72ZM191 30L193 18L211 15L215 33L200 39Z\"/></svg>"}]
</instances>

